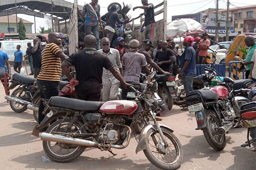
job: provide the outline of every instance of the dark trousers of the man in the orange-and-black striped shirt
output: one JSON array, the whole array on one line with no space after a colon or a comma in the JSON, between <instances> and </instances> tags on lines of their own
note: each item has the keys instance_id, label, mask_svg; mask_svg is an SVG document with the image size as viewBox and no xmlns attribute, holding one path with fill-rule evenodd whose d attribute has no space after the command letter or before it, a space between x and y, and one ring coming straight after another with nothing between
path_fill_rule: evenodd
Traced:
<instances>
[{"instance_id":1,"label":"dark trousers of the man in the orange-and-black striped shirt","mask_svg":"<svg viewBox=\"0 0 256 170\"><path fill-rule=\"evenodd\" d=\"M40 90L41 99L50 99L52 96L58 96L59 85L58 82L37 80L38 87ZM41 100L38 108L38 122L39 124L44 119L44 103Z\"/></svg>"}]
</instances>

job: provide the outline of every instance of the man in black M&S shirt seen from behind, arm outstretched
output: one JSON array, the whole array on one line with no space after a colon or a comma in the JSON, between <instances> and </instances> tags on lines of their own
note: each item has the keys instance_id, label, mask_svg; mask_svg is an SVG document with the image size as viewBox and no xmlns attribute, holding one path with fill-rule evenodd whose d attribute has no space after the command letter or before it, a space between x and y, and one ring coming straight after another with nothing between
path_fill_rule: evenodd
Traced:
<instances>
[{"instance_id":1,"label":"man in black M&S shirt seen from behind, arm outstretched","mask_svg":"<svg viewBox=\"0 0 256 170\"><path fill-rule=\"evenodd\" d=\"M72 79L69 67L71 65L75 66L76 79L79 80L79 84L76 86L76 99L100 100L103 68L110 71L125 88L131 86L124 81L122 75L114 68L110 59L96 51L96 44L96 37L93 35L85 36L84 50L71 54L61 65L64 74L69 80Z\"/></svg>"}]
</instances>

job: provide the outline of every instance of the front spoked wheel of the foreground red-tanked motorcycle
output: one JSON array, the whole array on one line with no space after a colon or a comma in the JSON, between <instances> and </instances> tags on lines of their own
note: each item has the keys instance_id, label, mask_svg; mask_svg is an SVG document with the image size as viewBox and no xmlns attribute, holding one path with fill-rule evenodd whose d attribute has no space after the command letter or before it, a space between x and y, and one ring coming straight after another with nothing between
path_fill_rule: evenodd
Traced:
<instances>
[{"instance_id":1,"label":"front spoked wheel of the foreground red-tanked motorcycle","mask_svg":"<svg viewBox=\"0 0 256 170\"><path fill-rule=\"evenodd\" d=\"M161 130L168 147L164 146L160 134L151 128L146 135L146 149L143 152L154 166L162 170L175 170L180 167L183 161L182 145L171 131L163 127L161 127Z\"/></svg>"}]
</instances>

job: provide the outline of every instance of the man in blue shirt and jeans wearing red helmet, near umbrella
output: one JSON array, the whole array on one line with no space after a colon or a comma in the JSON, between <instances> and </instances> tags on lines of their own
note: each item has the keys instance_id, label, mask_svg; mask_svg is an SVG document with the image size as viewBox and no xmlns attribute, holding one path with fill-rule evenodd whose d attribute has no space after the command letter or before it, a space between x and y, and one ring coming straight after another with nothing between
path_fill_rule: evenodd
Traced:
<instances>
[{"instance_id":1,"label":"man in blue shirt and jeans wearing red helmet, near umbrella","mask_svg":"<svg viewBox=\"0 0 256 170\"><path fill-rule=\"evenodd\" d=\"M186 46L181 56L181 71L178 76L179 79L183 80L184 90L187 93L193 91L192 84L193 79L196 76L195 68L195 50L192 47L193 37L185 37L183 45Z\"/></svg>"}]
</instances>

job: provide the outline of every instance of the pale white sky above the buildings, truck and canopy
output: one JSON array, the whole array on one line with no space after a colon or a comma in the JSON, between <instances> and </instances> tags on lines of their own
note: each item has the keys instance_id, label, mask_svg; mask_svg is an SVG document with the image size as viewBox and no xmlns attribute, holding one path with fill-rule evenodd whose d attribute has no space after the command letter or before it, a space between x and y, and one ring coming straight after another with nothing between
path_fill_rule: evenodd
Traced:
<instances>
[{"instance_id":1,"label":"pale white sky above the buildings, truck and canopy","mask_svg":"<svg viewBox=\"0 0 256 170\"><path fill-rule=\"evenodd\" d=\"M73 3L74 0L66 0L68 2ZM78 4L83 6L85 3L89 3L91 2L91 0L78 0ZM125 2L125 0L99 0L99 5L101 6L101 15L104 15L105 13L108 12L108 5L110 3L113 2L117 2L120 3L122 5L123 2ZM140 0L129 0L126 1L129 2L129 4L132 5L132 8L135 6L141 6L141 1ZM154 3L154 6L156 6L158 3L162 2L162 0L148 0L149 3ZM157 3L156 3L157 2ZM189 3L189 4L187 4ZM206 10L208 8L215 8L215 0L167 0L167 22L171 22L172 21L172 16L173 15L182 15L182 14L194 14L197 13L199 11L203 11ZM252 0L230 0L230 3L235 5L235 6L248 6L248 5L253 5ZM126 3L125 3L126 5ZM219 0L219 8L223 8L226 9L227 8L227 0ZM234 8L234 6L230 5L230 8ZM155 10L158 11L161 8L157 8ZM129 15L132 16L132 18L135 18L137 16L139 16L141 13L143 13L143 9L136 9L135 11L130 10L128 12ZM28 20L32 23L34 23L34 17L33 16L29 16L29 15L25 15L25 14L18 14L18 17L21 17L24 20ZM158 17L156 17L156 20L160 20L163 18L163 14L158 15ZM39 32L39 26L44 28L48 28L47 24L46 24L46 20L44 18L39 18L36 17L36 31ZM135 21L135 23L140 23L139 20ZM32 31L33 33L35 33L35 24L32 25Z\"/></svg>"}]
</instances>

